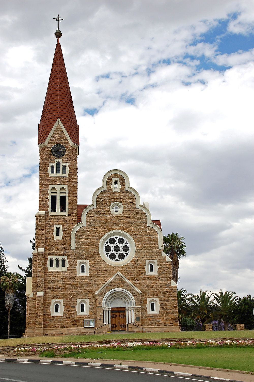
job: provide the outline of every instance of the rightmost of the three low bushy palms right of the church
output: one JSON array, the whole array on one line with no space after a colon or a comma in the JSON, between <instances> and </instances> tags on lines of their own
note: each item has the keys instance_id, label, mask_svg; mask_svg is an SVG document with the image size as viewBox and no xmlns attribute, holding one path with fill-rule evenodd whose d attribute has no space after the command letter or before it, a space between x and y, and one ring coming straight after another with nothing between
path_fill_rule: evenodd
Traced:
<instances>
[{"instance_id":1,"label":"rightmost of the three low bushy palms right of the church","mask_svg":"<svg viewBox=\"0 0 254 382\"><path fill-rule=\"evenodd\" d=\"M224 330L228 330L228 320L227 316L230 310L233 301L237 298L234 296L235 292L225 291L223 293L222 290L219 293L213 293L213 302L215 303L215 312L214 315L218 318L218 329L220 327L220 322L223 321Z\"/></svg>"}]
</instances>

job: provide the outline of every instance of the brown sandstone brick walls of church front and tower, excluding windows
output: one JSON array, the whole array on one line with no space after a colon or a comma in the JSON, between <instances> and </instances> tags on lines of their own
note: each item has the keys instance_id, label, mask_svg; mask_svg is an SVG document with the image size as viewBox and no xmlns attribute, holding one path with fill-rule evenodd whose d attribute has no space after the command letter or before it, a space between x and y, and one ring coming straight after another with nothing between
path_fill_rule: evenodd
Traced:
<instances>
[{"instance_id":1,"label":"brown sandstone brick walls of church front and tower, excluding windows","mask_svg":"<svg viewBox=\"0 0 254 382\"><path fill-rule=\"evenodd\" d=\"M54 163L50 150L60 142L66 147L62 158L69 166L68 177L49 176L49 163ZM147 226L147 215L136 208L134 194L125 190L125 179L121 174L112 174L107 179L107 189L97 196L97 207L86 215L86 226L76 232L75 249L70 249L71 230L77 223L77 149L71 147L63 131L57 128L47 147L40 148L39 170L39 211L45 215L36 216L36 248L45 252L33 255L32 298L28 298L28 323L26 335L91 333L94 329L83 328L84 319L95 319L95 327L103 324L102 299L107 291L114 288L128 290L134 297L140 321L135 322L150 331L176 331L178 327L176 286L171 286L171 262L162 256L159 249L158 233ZM120 192L113 192L112 178L120 178ZM49 184L68 185L68 216L49 216ZM123 213L110 213L111 202L121 202ZM61 224L62 240L54 240L55 224ZM136 252L133 259L123 266L107 264L99 254L99 242L104 234L112 230L128 233L134 240ZM49 256L67 256L68 269L48 271ZM156 259L158 275L146 275L146 260ZM78 276L78 260L89 260L89 276ZM99 294L95 291L104 285L116 272L120 272L141 294L123 278L116 277ZM36 296L36 291L44 291L44 296ZM147 298L159 298L159 314L147 314ZM63 299L63 316L51 316L52 299ZM89 299L89 316L77 316L77 299ZM135 312L136 312L135 311ZM135 314L136 317L136 314Z\"/></svg>"}]
</instances>

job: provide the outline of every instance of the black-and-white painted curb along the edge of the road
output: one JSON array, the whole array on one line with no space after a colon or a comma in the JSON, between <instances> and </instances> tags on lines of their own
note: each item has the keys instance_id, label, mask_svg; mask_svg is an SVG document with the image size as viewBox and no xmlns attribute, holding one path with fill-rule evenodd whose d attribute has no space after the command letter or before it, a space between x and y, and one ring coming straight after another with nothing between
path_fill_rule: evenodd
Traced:
<instances>
[{"instance_id":1,"label":"black-and-white painted curb along the edge of the road","mask_svg":"<svg viewBox=\"0 0 254 382\"><path fill-rule=\"evenodd\" d=\"M168 371L163 369L153 369L151 367L141 367L134 365L121 365L121 364L108 364L108 363L99 363L99 362L82 362L82 361L57 361L53 359L31 359L31 358L0 358L0 362L28 362L28 363L52 363L58 365L71 365L71 366L93 366L93 367L112 367L115 369L121 370L139 370L146 371L151 373L159 373L159 374L171 374L178 377L199 377L199 378L207 378L207 379L217 379L228 382L239 382L235 379L226 379L220 377L209 377L202 376L200 374L190 374L179 371Z\"/></svg>"}]
</instances>

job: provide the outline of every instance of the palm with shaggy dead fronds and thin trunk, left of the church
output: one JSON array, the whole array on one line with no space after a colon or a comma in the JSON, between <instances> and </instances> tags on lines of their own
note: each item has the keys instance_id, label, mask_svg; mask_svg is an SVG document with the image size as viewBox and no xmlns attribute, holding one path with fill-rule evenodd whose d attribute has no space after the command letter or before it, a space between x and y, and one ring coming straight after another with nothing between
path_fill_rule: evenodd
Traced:
<instances>
[{"instance_id":1,"label":"palm with shaggy dead fronds and thin trunk, left of the church","mask_svg":"<svg viewBox=\"0 0 254 382\"><path fill-rule=\"evenodd\" d=\"M6 272L0 277L0 286L5 291L5 307L8 310L8 338L10 338L10 310L14 303L14 294L18 288L18 276Z\"/></svg>"}]
</instances>

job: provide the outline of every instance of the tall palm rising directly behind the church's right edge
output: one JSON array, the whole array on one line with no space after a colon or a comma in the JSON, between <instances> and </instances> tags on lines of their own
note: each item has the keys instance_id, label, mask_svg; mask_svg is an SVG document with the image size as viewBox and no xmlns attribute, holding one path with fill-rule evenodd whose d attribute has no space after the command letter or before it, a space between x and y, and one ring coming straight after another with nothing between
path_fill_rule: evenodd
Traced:
<instances>
[{"instance_id":1,"label":"tall palm rising directly behind the church's right edge","mask_svg":"<svg viewBox=\"0 0 254 382\"><path fill-rule=\"evenodd\" d=\"M179 237L178 233L169 233L168 236L163 236L164 253L172 260L172 280L177 284L179 259L186 256L186 245L183 242L184 237Z\"/></svg>"}]
</instances>

